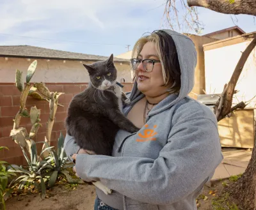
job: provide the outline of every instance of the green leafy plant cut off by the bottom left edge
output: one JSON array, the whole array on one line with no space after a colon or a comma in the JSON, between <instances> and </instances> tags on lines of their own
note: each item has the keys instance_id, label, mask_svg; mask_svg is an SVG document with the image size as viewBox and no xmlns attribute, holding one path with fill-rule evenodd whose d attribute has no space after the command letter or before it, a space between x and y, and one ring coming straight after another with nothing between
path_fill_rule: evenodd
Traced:
<instances>
[{"instance_id":1,"label":"green leafy plant cut off by the bottom left edge","mask_svg":"<svg viewBox=\"0 0 256 210\"><path fill-rule=\"evenodd\" d=\"M0 147L0 150L2 149L8 149L7 147ZM6 186L8 184L8 177L16 176L15 173L9 172L6 170L6 165L9 165L6 161L0 160L0 205L2 203L3 210L5 210L5 204L4 204L4 191L6 190ZM0 206L1 207L1 206Z\"/></svg>"}]
</instances>

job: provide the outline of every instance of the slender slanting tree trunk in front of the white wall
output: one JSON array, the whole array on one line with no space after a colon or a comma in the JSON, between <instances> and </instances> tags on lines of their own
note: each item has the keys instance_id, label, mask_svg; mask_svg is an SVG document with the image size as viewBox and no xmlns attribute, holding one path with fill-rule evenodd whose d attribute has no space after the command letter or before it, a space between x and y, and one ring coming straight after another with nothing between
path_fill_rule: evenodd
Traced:
<instances>
[{"instance_id":1,"label":"slender slanting tree trunk in front of the white wall","mask_svg":"<svg viewBox=\"0 0 256 210\"><path fill-rule=\"evenodd\" d=\"M224 93L225 100L223 100L223 107L222 107L222 104L218 105L219 113L218 113L218 116L216 116L218 121L220 121L225 116L227 116L227 114L229 114L231 111L232 98L234 95L234 90L235 90L235 87L237 84L237 80L239 79L239 76L243 70L244 64L246 63L252 50L256 46L256 34L254 34L253 37L254 38L253 38L252 42L250 43L250 45L248 45L248 47L246 47L246 49L242 53L242 56L240 57L237 65L236 65L236 68L232 74L232 77L231 77L230 81L228 82L227 89L225 89L226 93Z\"/></svg>"}]
</instances>

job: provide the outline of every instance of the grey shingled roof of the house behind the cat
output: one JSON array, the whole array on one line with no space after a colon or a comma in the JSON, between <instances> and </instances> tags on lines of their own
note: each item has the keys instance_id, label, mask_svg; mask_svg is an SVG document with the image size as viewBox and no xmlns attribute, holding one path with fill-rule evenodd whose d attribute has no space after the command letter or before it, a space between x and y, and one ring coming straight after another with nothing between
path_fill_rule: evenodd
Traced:
<instances>
[{"instance_id":1,"label":"grey shingled roof of the house behind the cat","mask_svg":"<svg viewBox=\"0 0 256 210\"><path fill-rule=\"evenodd\" d=\"M110 56L110 55L109 55ZM101 61L108 59L106 56L95 56L77 52L53 50L29 45L0 46L0 57L26 57L41 59L65 59L78 61ZM127 59L114 58L117 62L129 62Z\"/></svg>"}]
</instances>

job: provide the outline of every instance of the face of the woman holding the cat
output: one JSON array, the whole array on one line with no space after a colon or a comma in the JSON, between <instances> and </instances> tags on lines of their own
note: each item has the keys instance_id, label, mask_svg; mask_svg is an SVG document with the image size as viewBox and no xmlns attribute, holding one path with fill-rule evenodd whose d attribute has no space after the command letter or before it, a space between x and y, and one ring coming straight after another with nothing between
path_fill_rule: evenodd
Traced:
<instances>
[{"instance_id":1,"label":"face of the woman holding the cat","mask_svg":"<svg viewBox=\"0 0 256 210\"><path fill-rule=\"evenodd\" d=\"M156 44L148 41L143 46L138 59L153 59L159 61L157 56ZM135 71L138 90L146 96L156 97L166 92L168 87L164 86L161 63L155 63L152 71L145 71L142 62Z\"/></svg>"}]
</instances>

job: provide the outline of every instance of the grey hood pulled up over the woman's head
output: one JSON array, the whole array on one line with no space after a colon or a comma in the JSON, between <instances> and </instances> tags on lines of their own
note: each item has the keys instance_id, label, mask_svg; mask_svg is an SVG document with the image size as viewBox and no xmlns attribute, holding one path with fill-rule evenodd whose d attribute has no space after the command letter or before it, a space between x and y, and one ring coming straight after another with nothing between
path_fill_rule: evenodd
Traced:
<instances>
[{"instance_id":1,"label":"grey hood pulled up over the woman's head","mask_svg":"<svg viewBox=\"0 0 256 210\"><path fill-rule=\"evenodd\" d=\"M177 33L172 30L164 29L159 30L164 31L165 33L172 36L173 41L175 43L175 47L177 49L179 64L180 64L180 91L178 94L171 94L166 99L161 101L159 104L154 107L148 116L152 116L154 114L158 114L159 112L163 112L163 110L169 109L175 103L178 103L180 100L188 96L191 90L194 87L194 75L195 75L195 67L197 62L197 54L195 49L195 44L193 41L183 34ZM137 82L134 82L134 86L132 87L132 91L130 94L131 101L138 101L138 98L142 98L143 94L137 88ZM137 100L136 100L137 99Z\"/></svg>"}]
</instances>

